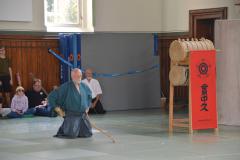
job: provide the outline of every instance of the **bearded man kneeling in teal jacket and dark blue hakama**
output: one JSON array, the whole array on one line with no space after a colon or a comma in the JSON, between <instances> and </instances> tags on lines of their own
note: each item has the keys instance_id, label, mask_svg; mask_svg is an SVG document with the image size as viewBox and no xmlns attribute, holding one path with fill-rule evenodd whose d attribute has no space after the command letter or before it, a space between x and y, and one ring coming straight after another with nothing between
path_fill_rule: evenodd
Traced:
<instances>
[{"instance_id":1,"label":"bearded man kneeling in teal jacket and dark blue hakama","mask_svg":"<svg viewBox=\"0 0 240 160\"><path fill-rule=\"evenodd\" d=\"M49 104L55 109L65 112L63 123L54 137L58 138L88 138L92 137L92 126L87 112L91 105L92 92L82 83L82 71L74 68L71 71L72 80L53 90L49 96Z\"/></svg>"}]
</instances>

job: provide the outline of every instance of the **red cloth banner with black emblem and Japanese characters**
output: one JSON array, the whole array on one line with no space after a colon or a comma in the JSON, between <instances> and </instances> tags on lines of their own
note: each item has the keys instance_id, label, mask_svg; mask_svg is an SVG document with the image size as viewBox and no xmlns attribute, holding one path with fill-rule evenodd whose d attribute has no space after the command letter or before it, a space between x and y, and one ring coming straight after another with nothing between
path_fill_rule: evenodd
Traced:
<instances>
[{"instance_id":1,"label":"red cloth banner with black emblem and Japanese characters","mask_svg":"<svg viewBox=\"0 0 240 160\"><path fill-rule=\"evenodd\" d=\"M192 129L217 128L216 51L190 52Z\"/></svg>"}]
</instances>

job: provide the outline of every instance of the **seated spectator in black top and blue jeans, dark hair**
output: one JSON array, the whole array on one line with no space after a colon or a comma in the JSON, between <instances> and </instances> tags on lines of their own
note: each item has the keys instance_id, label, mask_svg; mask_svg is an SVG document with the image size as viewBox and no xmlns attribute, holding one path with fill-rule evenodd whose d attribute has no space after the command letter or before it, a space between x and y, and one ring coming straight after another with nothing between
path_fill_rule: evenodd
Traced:
<instances>
[{"instance_id":1,"label":"seated spectator in black top and blue jeans, dark hair","mask_svg":"<svg viewBox=\"0 0 240 160\"><path fill-rule=\"evenodd\" d=\"M36 116L56 117L57 114L50 105L47 104L47 95L42 89L40 79L34 79L32 90L27 91L29 108L36 108Z\"/></svg>"}]
</instances>

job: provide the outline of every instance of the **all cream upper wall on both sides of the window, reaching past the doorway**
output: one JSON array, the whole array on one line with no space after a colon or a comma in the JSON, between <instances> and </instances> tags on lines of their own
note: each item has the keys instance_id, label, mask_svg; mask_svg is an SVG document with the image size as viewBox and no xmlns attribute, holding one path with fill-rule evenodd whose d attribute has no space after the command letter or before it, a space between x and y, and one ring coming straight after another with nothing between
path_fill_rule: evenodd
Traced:
<instances>
[{"instance_id":1,"label":"all cream upper wall on both sides of the window, reaching past the doorway","mask_svg":"<svg viewBox=\"0 0 240 160\"><path fill-rule=\"evenodd\" d=\"M32 22L0 21L0 30L45 31L44 0L32 1ZM191 9L229 7L229 19L240 18L234 0L93 0L93 5L97 32L186 32Z\"/></svg>"}]
</instances>

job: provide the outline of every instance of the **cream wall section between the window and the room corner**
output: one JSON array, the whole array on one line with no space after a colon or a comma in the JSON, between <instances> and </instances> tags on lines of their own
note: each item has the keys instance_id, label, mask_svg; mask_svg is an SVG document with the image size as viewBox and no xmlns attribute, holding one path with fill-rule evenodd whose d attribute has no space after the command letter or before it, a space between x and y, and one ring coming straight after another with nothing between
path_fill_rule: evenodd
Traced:
<instances>
[{"instance_id":1,"label":"cream wall section between the window and the room corner","mask_svg":"<svg viewBox=\"0 0 240 160\"><path fill-rule=\"evenodd\" d=\"M162 0L94 0L95 31L161 31Z\"/></svg>"}]
</instances>

